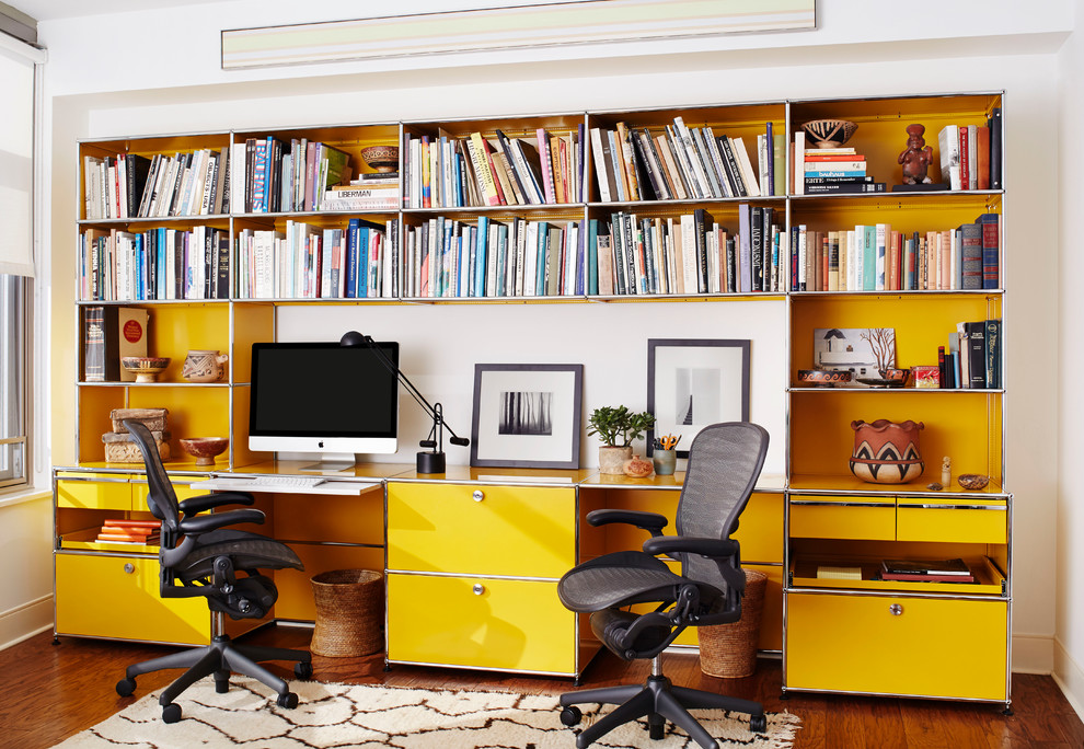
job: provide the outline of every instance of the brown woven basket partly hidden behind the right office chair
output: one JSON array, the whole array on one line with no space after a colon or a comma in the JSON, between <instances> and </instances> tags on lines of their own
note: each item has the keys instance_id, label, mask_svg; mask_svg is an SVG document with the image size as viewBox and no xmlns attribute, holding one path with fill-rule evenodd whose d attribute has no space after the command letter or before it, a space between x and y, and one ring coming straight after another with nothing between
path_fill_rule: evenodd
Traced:
<instances>
[{"instance_id":1,"label":"brown woven basket partly hidden behind the right office chair","mask_svg":"<svg viewBox=\"0 0 1084 749\"><path fill-rule=\"evenodd\" d=\"M741 619L729 624L699 626L700 670L707 676L737 679L757 670L757 643L760 619L764 611L768 575L746 569L746 595L741 599Z\"/></svg>"}]
</instances>

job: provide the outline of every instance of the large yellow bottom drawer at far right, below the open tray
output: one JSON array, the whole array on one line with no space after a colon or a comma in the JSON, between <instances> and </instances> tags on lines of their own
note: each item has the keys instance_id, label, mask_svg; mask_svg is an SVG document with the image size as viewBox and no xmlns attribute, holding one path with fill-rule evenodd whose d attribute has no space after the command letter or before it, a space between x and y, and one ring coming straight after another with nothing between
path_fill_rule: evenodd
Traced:
<instances>
[{"instance_id":1,"label":"large yellow bottom drawer at far right, below the open tray","mask_svg":"<svg viewBox=\"0 0 1084 749\"><path fill-rule=\"evenodd\" d=\"M1004 600L789 594L786 604L787 689L1007 699Z\"/></svg>"}]
</instances>

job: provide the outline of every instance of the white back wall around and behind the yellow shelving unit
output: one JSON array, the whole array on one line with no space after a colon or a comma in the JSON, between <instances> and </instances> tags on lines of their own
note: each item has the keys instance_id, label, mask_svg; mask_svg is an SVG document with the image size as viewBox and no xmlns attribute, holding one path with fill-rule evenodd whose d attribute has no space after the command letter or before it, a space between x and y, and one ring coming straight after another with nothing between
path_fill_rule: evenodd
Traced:
<instances>
[{"instance_id":1,"label":"white back wall around and behind the yellow shelving unit","mask_svg":"<svg viewBox=\"0 0 1084 749\"><path fill-rule=\"evenodd\" d=\"M1010 486L1016 493L1017 508L1015 579L1027 580L1027 585L1017 583L1014 590L1014 668L1049 672L1056 632L1054 588L1061 566L1056 564L1059 558L1050 543L1057 525L1059 482L1049 435L1050 425L1060 423L1061 411L1057 389L1033 383L1036 372L1059 368L1058 331L1051 324L1059 312L1059 295L1050 281L1051 268L1058 265L1054 206L1059 191L1054 175L1059 154L1049 145L1058 139L1053 113L1059 111L1059 59L1054 51L1072 30L1072 5L1045 3L1043 12L1035 13L1031 7L1001 0L985 3L984 12L976 14L973 3L961 0L911 3L907 10L897 3L861 0L821 0L818 4L820 30L802 34L249 72L216 68L219 28L246 25L252 18L266 24L302 20L301 15L313 20L307 14L319 9L297 3L228 2L216 3L208 13L147 11L123 19L93 16L44 23L41 33L50 48L54 96L54 277L72 277L77 138L314 122L1004 89L1010 189L1005 227L1006 246L1012 249L1005 266L1010 292L1006 381L1012 388L1006 408L1007 447ZM255 7L258 12L249 15ZM338 12L328 11L326 16L350 18L356 12L343 11L344 7L333 5ZM422 8L420 2L404 1L396 11ZM160 39L163 44L154 45L154 54L139 55L138 62L126 56L118 65L117 56L101 43L117 27L129 28L134 38ZM145 33L137 31L140 28ZM164 43L182 38L184 44ZM60 288L55 295L54 334L57 341L73 342L77 337L68 291ZM419 385L445 399L453 426L470 417L469 401L463 401L464 405L457 402L454 408L449 404L453 399L469 399L470 365L474 361L553 360L567 355L566 360L587 365L586 407L599 405L600 397L609 400L611 393L635 406L634 399L646 397L646 338L748 335L754 339L753 417L781 424L785 377L777 362L782 353L765 354L773 345L781 347L773 339L782 335L781 323L772 313L751 320L743 319L743 304L697 304L695 314L676 315L691 321L690 327L678 327L660 325L659 309L655 304L435 306L322 312L291 308L280 320L284 332L307 332L311 330L310 315L320 315L321 324L333 329L330 333L334 335L350 327L376 330L381 335L388 332L389 337L394 331L394 337L404 344L435 347L434 355L439 354L441 360L447 355L454 368L423 372L424 384ZM702 321L701 309L710 309L713 320L719 322ZM621 319L623 335L607 347L592 345L590 326L614 318ZM539 326L542 331L537 333ZM447 331L448 336L430 338L430 327ZM529 331L528 337L524 331ZM453 332L462 332L462 347ZM532 350L529 339L533 335L545 344L539 345L538 352ZM554 342L567 343L563 356L553 354ZM59 354L54 366L54 399L70 402L73 355L64 355L59 348L54 347ZM540 358L543 352L546 359ZM404 415L408 410L404 406ZM60 416L54 429L54 442L62 456L71 440ZM591 456L585 452L585 458ZM450 459L465 462L464 456L455 453L450 453ZM773 461L780 461L779 453ZM1064 541L1060 553L1071 554L1070 539ZM1084 614L1077 600L1075 612L1065 612L1058 620L1063 643L1072 625L1076 623L1080 629L1081 622ZM1080 644L1076 648L1076 662L1081 662Z\"/></svg>"}]
</instances>

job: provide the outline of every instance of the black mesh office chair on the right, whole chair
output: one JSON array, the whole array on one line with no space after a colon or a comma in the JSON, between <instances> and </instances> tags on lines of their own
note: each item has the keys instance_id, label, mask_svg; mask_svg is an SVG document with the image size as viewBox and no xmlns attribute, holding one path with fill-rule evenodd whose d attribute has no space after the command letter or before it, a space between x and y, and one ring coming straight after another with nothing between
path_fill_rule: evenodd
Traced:
<instances>
[{"instance_id":1,"label":"black mesh office chair on the right, whole chair","mask_svg":"<svg viewBox=\"0 0 1084 749\"><path fill-rule=\"evenodd\" d=\"M689 449L676 537L664 537L667 520L655 512L595 510L592 526L626 522L649 531L643 551L619 551L585 562L566 573L557 595L566 608L593 612L591 630L625 660L653 658L646 684L606 687L561 695L561 721L579 723L577 704L619 705L584 729L576 746L584 749L614 728L647 716L650 738L664 736L665 722L681 726L705 749L718 747L689 713L708 707L748 713L750 729L763 733L768 721L756 702L674 687L662 676L661 654L687 626L736 622L741 618L745 573L738 542L730 534L752 493L768 452L768 431L756 424L715 424L703 429ZM658 555L681 562L677 575ZM654 611L632 613L634 603L657 603Z\"/></svg>"}]
</instances>

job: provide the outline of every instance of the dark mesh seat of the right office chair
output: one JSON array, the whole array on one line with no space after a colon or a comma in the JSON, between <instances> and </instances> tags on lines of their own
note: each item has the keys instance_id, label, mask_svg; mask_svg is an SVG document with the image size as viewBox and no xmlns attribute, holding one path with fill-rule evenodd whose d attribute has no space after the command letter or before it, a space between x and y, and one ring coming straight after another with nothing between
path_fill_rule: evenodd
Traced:
<instances>
[{"instance_id":1,"label":"dark mesh seat of the right office chair","mask_svg":"<svg viewBox=\"0 0 1084 749\"><path fill-rule=\"evenodd\" d=\"M577 565L557 584L557 596L570 611L591 612L647 601L672 603L683 585L696 585L702 600L715 600L717 588L670 571L657 556L619 551Z\"/></svg>"}]
</instances>

